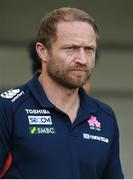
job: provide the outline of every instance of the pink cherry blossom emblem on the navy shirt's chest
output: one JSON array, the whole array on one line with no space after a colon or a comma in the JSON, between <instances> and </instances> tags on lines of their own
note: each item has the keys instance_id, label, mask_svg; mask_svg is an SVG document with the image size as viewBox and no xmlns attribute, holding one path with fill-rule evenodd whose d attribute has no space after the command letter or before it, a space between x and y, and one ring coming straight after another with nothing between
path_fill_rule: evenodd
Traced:
<instances>
[{"instance_id":1,"label":"pink cherry blossom emblem on the navy shirt's chest","mask_svg":"<svg viewBox=\"0 0 133 180\"><path fill-rule=\"evenodd\" d=\"M101 131L101 123L98 122L95 116L91 116L87 122L90 126L90 129Z\"/></svg>"}]
</instances>

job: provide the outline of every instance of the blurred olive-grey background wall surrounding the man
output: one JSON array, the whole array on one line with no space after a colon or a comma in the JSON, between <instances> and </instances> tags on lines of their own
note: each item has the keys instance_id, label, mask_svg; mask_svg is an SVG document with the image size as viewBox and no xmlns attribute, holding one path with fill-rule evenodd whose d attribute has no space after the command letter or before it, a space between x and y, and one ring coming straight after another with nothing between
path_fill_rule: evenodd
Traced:
<instances>
[{"instance_id":1,"label":"blurred olive-grey background wall surrounding the man","mask_svg":"<svg viewBox=\"0 0 133 180\"><path fill-rule=\"evenodd\" d=\"M114 109L125 178L133 178L133 1L0 0L0 92L32 77L29 44L41 18L61 6L89 12L100 29L91 95Z\"/></svg>"}]
</instances>

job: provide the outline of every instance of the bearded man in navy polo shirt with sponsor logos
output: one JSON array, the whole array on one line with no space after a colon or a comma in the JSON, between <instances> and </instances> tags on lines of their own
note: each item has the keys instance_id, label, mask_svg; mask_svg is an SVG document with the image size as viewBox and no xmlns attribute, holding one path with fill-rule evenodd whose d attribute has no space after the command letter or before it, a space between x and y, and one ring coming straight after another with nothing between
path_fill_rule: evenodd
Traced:
<instances>
[{"instance_id":1,"label":"bearded man in navy polo shirt with sponsor logos","mask_svg":"<svg viewBox=\"0 0 133 180\"><path fill-rule=\"evenodd\" d=\"M1 94L3 178L123 178L119 132L110 107L82 86L95 65L98 29L84 11L59 8L37 35L41 73Z\"/></svg>"}]
</instances>

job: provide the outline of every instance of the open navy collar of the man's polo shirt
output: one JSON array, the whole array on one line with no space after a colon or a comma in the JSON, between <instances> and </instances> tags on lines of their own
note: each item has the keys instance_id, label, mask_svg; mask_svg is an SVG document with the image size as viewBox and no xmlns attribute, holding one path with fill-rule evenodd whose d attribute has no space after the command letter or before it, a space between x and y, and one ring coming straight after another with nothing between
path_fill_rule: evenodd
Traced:
<instances>
[{"instance_id":1,"label":"open navy collar of the man's polo shirt","mask_svg":"<svg viewBox=\"0 0 133 180\"><path fill-rule=\"evenodd\" d=\"M27 83L28 88L30 89L33 96L38 100L41 106L45 108L54 108L55 106L47 98L39 80L40 73L35 73L33 78ZM86 116L88 114L93 114L98 110L98 105L93 98L88 96L85 90L81 87L79 89L80 96L80 108L78 111L78 116Z\"/></svg>"}]
</instances>

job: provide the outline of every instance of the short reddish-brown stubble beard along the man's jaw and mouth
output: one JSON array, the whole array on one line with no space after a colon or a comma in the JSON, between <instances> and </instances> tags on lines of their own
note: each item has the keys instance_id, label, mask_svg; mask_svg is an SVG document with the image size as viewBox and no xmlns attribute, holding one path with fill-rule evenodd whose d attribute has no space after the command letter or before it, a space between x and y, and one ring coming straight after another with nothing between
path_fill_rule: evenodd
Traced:
<instances>
[{"instance_id":1,"label":"short reddish-brown stubble beard along the man's jaw and mouth","mask_svg":"<svg viewBox=\"0 0 133 180\"><path fill-rule=\"evenodd\" d=\"M67 89L76 89L83 86L90 78L93 68L86 70L84 73L84 77L74 77L74 74L72 74L71 71L73 71L73 68L71 69L66 68L65 66L62 67L61 63L55 63L56 58L53 57L52 53L49 53L49 61L47 63L47 74L48 76L54 80L57 84L60 86L63 86ZM79 65L80 66L80 65ZM82 65L81 65L82 66ZM87 69L87 67L77 67L77 69ZM76 69L76 68L75 68Z\"/></svg>"}]
</instances>

